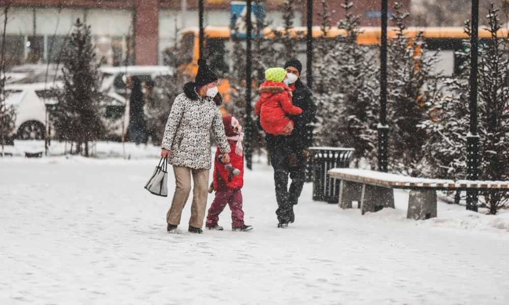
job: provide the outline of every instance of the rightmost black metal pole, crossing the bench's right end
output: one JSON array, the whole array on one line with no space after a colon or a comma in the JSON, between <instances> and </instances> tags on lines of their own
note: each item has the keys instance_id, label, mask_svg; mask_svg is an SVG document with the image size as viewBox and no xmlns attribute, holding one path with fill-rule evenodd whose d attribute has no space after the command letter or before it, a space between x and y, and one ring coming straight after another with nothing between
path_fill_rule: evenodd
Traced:
<instances>
[{"instance_id":1,"label":"rightmost black metal pole, crossing the bench's right end","mask_svg":"<svg viewBox=\"0 0 509 305\"><path fill-rule=\"evenodd\" d=\"M470 37L470 132L467 135L467 180L477 180L479 135L477 135L477 35L479 0L472 0L472 36ZM467 210L477 211L477 190L467 191Z\"/></svg>"}]
</instances>

